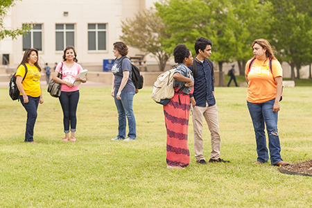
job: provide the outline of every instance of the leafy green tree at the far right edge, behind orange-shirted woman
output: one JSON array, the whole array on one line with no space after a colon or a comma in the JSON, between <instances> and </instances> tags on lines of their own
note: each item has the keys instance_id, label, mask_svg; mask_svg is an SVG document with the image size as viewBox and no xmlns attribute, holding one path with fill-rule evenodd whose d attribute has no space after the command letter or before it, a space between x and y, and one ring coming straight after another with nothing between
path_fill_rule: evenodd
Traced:
<instances>
[{"instance_id":1,"label":"leafy green tree at the far right edge, behind orange-shirted woman","mask_svg":"<svg viewBox=\"0 0 312 208\"><path fill-rule=\"evenodd\" d=\"M312 60L312 8L310 0L269 0L274 6L272 45L277 57L291 66L291 80Z\"/></svg>"}]
</instances>

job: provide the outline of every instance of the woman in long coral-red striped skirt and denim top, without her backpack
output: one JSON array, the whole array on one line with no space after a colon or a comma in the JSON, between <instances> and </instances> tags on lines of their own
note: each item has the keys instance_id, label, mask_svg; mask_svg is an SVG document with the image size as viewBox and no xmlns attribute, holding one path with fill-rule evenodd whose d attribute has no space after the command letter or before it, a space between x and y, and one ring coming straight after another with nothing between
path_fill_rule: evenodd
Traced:
<instances>
[{"instance_id":1,"label":"woman in long coral-red striped skirt and denim top, without her backpack","mask_svg":"<svg viewBox=\"0 0 312 208\"><path fill-rule=\"evenodd\" d=\"M164 116L167 129L167 168L184 169L189 165L189 146L187 130L189 127L189 94L193 94L193 76L189 66L193 64L192 53L184 44L173 49L177 67L173 73L175 94L167 105L164 105ZM192 102L195 102L194 99Z\"/></svg>"}]
</instances>

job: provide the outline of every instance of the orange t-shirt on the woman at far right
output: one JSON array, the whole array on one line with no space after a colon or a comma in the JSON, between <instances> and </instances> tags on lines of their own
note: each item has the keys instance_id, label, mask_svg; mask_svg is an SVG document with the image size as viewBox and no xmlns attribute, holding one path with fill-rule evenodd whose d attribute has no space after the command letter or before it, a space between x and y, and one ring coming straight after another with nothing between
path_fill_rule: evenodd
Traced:
<instances>
[{"instance_id":1,"label":"orange t-shirt on the woman at far right","mask_svg":"<svg viewBox=\"0 0 312 208\"><path fill-rule=\"evenodd\" d=\"M269 69L269 58L254 60L249 71L249 60L246 64L245 74L248 76L247 101L250 103L264 103L276 97L277 83L275 78L283 76L283 69L278 60L272 60L272 73Z\"/></svg>"}]
</instances>

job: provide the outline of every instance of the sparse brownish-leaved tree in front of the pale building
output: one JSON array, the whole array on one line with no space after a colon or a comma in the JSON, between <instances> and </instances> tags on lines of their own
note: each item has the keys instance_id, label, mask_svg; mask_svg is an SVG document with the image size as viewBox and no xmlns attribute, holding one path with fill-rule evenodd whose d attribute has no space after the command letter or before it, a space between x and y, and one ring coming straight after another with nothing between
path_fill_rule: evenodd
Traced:
<instances>
[{"instance_id":1,"label":"sparse brownish-leaved tree in front of the pale building","mask_svg":"<svg viewBox=\"0 0 312 208\"><path fill-rule=\"evenodd\" d=\"M121 27L123 31L121 40L141 51L155 55L160 71L164 71L171 52L164 51L162 37L170 38L171 35L166 33L166 25L155 11L144 10L134 19L122 21Z\"/></svg>"}]
</instances>

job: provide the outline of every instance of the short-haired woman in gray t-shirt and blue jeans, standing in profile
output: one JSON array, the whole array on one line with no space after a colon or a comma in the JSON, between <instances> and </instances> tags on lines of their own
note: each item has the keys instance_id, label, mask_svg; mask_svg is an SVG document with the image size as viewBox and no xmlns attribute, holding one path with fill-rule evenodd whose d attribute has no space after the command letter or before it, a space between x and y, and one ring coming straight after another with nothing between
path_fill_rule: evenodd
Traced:
<instances>
[{"instance_id":1,"label":"short-haired woman in gray t-shirt and blue jeans, standing in profile","mask_svg":"<svg viewBox=\"0 0 312 208\"><path fill-rule=\"evenodd\" d=\"M128 46L123 42L114 42L113 53L116 57L112 67L112 91L118 112L118 135L112 140L125 139L126 120L128 119L128 137L124 141L137 138L137 125L133 112L133 96L135 96L135 85L132 83L131 61L125 55L128 54Z\"/></svg>"}]
</instances>

